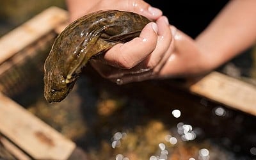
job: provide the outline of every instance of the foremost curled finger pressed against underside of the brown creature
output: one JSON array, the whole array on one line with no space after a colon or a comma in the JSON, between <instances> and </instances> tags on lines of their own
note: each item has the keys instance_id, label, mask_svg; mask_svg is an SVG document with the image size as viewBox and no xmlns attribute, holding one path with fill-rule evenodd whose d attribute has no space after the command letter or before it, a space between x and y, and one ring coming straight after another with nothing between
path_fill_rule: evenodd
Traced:
<instances>
[{"instance_id":1,"label":"foremost curled finger pressed against underside of the brown creature","mask_svg":"<svg viewBox=\"0 0 256 160\"><path fill-rule=\"evenodd\" d=\"M110 65L119 68L132 68L154 51L157 44L157 25L150 22L141 31L140 37L125 44L117 44L104 55Z\"/></svg>"}]
</instances>

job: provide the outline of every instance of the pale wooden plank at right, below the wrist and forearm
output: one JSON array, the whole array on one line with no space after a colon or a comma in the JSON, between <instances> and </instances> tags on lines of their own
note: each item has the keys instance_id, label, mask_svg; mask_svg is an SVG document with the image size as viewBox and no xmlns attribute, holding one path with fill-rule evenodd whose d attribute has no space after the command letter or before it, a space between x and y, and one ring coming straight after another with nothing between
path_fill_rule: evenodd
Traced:
<instances>
[{"instance_id":1,"label":"pale wooden plank at right, below the wrist and forearm","mask_svg":"<svg viewBox=\"0 0 256 160\"><path fill-rule=\"evenodd\" d=\"M192 93L256 116L256 86L219 72L189 86Z\"/></svg>"}]
</instances>

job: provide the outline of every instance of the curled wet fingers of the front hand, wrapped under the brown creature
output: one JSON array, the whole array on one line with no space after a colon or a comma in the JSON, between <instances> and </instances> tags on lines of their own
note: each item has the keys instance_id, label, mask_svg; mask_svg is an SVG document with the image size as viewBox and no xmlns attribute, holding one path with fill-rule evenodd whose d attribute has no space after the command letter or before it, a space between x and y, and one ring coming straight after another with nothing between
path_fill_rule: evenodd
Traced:
<instances>
[{"instance_id":1,"label":"curled wet fingers of the front hand, wrapped under the brown creature","mask_svg":"<svg viewBox=\"0 0 256 160\"><path fill-rule=\"evenodd\" d=\"M150 22L140 37L112 47L103 59L92 59L91 65L101 76L123 84L158 76L173 51L173 37L164 16Z\"/></svg>"}]
</instances>

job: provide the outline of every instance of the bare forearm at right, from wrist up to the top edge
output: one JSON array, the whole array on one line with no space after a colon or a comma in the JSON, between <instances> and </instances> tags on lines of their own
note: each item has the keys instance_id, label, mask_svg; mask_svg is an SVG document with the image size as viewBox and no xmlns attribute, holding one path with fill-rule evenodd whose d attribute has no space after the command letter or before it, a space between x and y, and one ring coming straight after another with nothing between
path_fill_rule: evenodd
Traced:
<instances>
[{"instance_id":1,"label":"bare forearm at right, from wrist up to the top edge","mask_svg":"<svg viewBox=\"0 0 256 160\"><path fill-rule=\"evenodd\" d=\"M205 63L215 68L230 60L255 43L256 1L233 0L196 38ZM204 57L204 56L203 56Z\"/></svg>"}]
</instances>

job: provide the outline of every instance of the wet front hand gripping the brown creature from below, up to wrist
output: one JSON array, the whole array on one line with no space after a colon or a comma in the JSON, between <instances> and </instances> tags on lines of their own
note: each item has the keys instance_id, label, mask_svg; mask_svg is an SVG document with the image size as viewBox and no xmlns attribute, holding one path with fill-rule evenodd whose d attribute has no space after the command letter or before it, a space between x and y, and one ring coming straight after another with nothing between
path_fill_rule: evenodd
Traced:
<instances>
[{"instance_id":1,"label":"wet front hand gripping the brown creature from below, up to wrist","mask_svg":"<svg viewBox=\"0 0 256 160\"><path fill-rule=\"evenodd\" d=\"M157 34L150 23L141 31L140 38L135 39L147 40L115 45L106 52L104 60L92 59L91 65L102 77L118 84L199 76L212 70L211 56L203 54L195 40L166 24L165 17L156 24Z\"/></svg>"}]
</instances>

